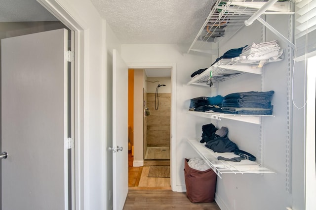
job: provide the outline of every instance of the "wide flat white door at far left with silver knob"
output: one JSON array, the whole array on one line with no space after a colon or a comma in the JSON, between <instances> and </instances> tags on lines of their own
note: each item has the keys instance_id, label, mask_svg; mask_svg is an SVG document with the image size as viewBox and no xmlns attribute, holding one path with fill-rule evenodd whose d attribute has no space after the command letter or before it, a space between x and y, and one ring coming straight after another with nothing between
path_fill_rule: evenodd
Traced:
<instances>
[{"instance_id":1,"label":"wide flat white door at far left with silver knob","mask_svg":"<svg viewBox=\"0 0 316 210\"><path fill-rule=\"evenodd\" d=\"M1 40L2 210L68 210L67 30Z\"/></svg>"}]
</instances>

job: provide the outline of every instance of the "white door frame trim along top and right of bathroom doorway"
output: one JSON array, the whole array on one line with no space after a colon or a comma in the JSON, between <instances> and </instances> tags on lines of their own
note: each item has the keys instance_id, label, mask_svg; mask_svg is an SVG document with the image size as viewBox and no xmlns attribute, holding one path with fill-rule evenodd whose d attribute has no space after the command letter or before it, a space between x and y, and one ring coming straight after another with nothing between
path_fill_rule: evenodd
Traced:
<instances>
[{"instance_id":1,"label":"white door frame trim along top and right of bathroom doorway","mask_svg":"<svg viewBox=\"0 0 316 210\"><path fill-rule=\"evenodd\" d=\"M176 63L126 63L128 69L168 68L171 71L171 107L170 107L170 185L177 191L176 184ZM134 148L134 152L135 152ZM144 157L143 157L144 158Z\"/></svg>"}]
</instances>

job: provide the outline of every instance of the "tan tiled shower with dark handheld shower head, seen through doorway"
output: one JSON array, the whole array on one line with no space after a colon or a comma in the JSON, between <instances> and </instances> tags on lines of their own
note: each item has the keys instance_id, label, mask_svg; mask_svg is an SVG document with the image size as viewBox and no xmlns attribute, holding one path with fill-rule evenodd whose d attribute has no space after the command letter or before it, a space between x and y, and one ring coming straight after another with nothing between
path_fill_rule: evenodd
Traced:
<instances>
[{"instance_id":1,"label":"tan tiled shower with dark handheld shower head, seen through doorway","mask_svg":"<svg viewBox=\"0 0 316 210\"><path fill-rule=\"evenodd\" d=\"M146 75L144 160L170 160L171 77Z\"/></svg>"}]
</instances>

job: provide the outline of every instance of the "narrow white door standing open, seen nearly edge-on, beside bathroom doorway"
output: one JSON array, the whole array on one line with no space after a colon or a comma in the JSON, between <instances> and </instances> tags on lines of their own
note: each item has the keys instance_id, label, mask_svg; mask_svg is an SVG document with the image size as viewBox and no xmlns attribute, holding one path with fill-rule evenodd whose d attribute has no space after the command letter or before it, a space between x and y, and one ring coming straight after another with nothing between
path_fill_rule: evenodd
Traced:
<instances>
[{"instance_id":1,"label":"narrow white door standing open, seen nearly edge-on, beside bathroom doorway","mask_svg":"<svg viewBox=\"0 0 316 210\"><path fill-rule=\"evenodd\" d=\"M113 50L113 207L122 210L128 193L128 68Z\"/></svg>"}]
</instances>

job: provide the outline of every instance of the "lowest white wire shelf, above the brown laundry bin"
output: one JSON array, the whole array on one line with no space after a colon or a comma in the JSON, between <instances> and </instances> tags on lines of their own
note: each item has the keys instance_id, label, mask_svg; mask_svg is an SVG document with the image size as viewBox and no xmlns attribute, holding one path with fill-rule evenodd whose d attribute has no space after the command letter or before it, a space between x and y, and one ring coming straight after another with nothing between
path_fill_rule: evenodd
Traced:
<instances>
[{"instance_id":1,"label":"lowest white wire shelf, above the brown laundry bin","mask_svg":"<svg viewBox=\"0 0 316 210\"><path fill-rule=\"evenodd\" d=\"M233 152L218 153L213 152L206 148L202 143L199 143L197 140L188 139L188 143L192 146L194 150L197 151L199 156L212 168L212 170L218 175L219 178L222 178L222 174L265 174L265 173L275 173L264 166L258 164L255 161L250 160L241 160L240 162L218 160L218 156L223 156L226 158L239 157Z\"/></svg>"}]
</instances>

